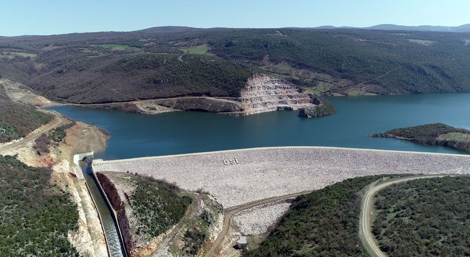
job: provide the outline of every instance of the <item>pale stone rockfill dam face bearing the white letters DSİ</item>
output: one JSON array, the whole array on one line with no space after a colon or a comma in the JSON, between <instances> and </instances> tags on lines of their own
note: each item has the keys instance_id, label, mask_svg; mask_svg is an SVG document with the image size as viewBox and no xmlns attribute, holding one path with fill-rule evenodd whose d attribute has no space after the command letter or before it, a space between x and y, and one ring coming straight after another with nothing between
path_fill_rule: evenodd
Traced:
<instances>
[{"instance_id":1,"label":"pale stone rockfill dam face bearing the white letters DS\u0130","mask_svg":"<svg viewBox=\"0 0 470 257\"><path fill-rule=\"evenodd\" d=\"M236 158L236 160L235 160ZM96 172L139 173L204 189L233 209L262 199L315 190L378 174L470 174L470 155L335 147L270 147L116 161Z\"/></svg>"}]
</instances>

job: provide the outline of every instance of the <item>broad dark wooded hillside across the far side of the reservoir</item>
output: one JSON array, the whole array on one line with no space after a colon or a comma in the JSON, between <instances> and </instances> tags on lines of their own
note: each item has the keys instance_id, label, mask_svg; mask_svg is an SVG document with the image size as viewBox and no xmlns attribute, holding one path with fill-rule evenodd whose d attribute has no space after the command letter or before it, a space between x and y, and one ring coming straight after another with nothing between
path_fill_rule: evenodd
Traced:
<instances>
[{"instance_id":1,"label":"broad dark wooded hillside across the far side of the reservoir","mask_svg":"<svg viewBox=\"0 0 470 257\"><path fill-rule=\"evenodd\" d=\"M1 76L66 102L237 96L257 72L322 94L470 92L470 33L156 27L0 38Z\"/></svg>"}]
</instances>

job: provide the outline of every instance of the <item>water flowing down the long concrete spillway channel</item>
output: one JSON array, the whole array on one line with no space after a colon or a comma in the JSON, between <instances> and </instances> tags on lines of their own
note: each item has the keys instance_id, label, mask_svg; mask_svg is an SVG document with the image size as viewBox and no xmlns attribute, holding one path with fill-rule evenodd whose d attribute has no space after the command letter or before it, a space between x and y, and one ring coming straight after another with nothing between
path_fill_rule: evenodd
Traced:
<instances>
[{"instance_id":1,"label":"water flowing down the long concrete spillway channel","mask_svg":"<svg viewBox=\"0 0 470 257\"><path fill-rule=\"evenodd\" d=\"M90 192L93 195L94 201L96 203L96 208L98 208L99 213L101 215L101 221L103 222L104 231L108 239L108 245L111 251L111 256L124 257L125 255L123 254L124 250L122 247L122 242L119 240L118 227L115 223L115 220L111 216L111 210L109 209L111 207L107 205L106 201L104 200L104 196L101 194L100 190L96 186L93 176L91 175L91 169L85 164L81 165L81 168L87 185L90 188Z\"/></svg>"}]
</instances>

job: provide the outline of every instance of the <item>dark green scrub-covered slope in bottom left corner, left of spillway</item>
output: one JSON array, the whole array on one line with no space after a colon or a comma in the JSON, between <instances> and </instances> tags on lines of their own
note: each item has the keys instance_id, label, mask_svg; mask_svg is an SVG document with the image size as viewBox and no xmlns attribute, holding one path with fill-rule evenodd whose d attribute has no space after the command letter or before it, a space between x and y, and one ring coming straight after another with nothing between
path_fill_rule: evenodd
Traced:
<instances>
[{"instance_id":1,"label":"dark green scrub-covered slope in bottom left corner, left of spillway","mask_svg":"<svg viewBox=\"0 0 470 257\"><path fill-rule=\"evenodd\" d=\"M78 256L67 239L78 211L69 195L49 185L52 170L0 155L0 256Z\"/></svg>"}]
</instances>

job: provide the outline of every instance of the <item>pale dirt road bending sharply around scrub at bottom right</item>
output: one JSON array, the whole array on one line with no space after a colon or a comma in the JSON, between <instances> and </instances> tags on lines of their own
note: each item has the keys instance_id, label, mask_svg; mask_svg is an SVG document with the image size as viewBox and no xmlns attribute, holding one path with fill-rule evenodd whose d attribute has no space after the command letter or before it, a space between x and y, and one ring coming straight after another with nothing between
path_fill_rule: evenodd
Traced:
<instances>
[{"instance_id":1,"label":"pale dirt road bending sharply around scrub at bottom right","mask_svg":"<svg viewBox=\"0 0 470 257\"><path fill-rule=\"evenodd\" d=\"M378 243L374 234L372 234L372 217L374 213L374 196L380 190L385 187L391 186L397 183L403 183L410 180L426 179L426 178L442 178L446 176L454 175L418 175L402 178L387 179L385 181L376 181L366 187L366 192L362 197L361 203L361 214L359 218L359 238L361 239L362 245L366 248L367 252L372 257L387 257L384 252L378 247Z\"/></svg>"}]
</instances>

